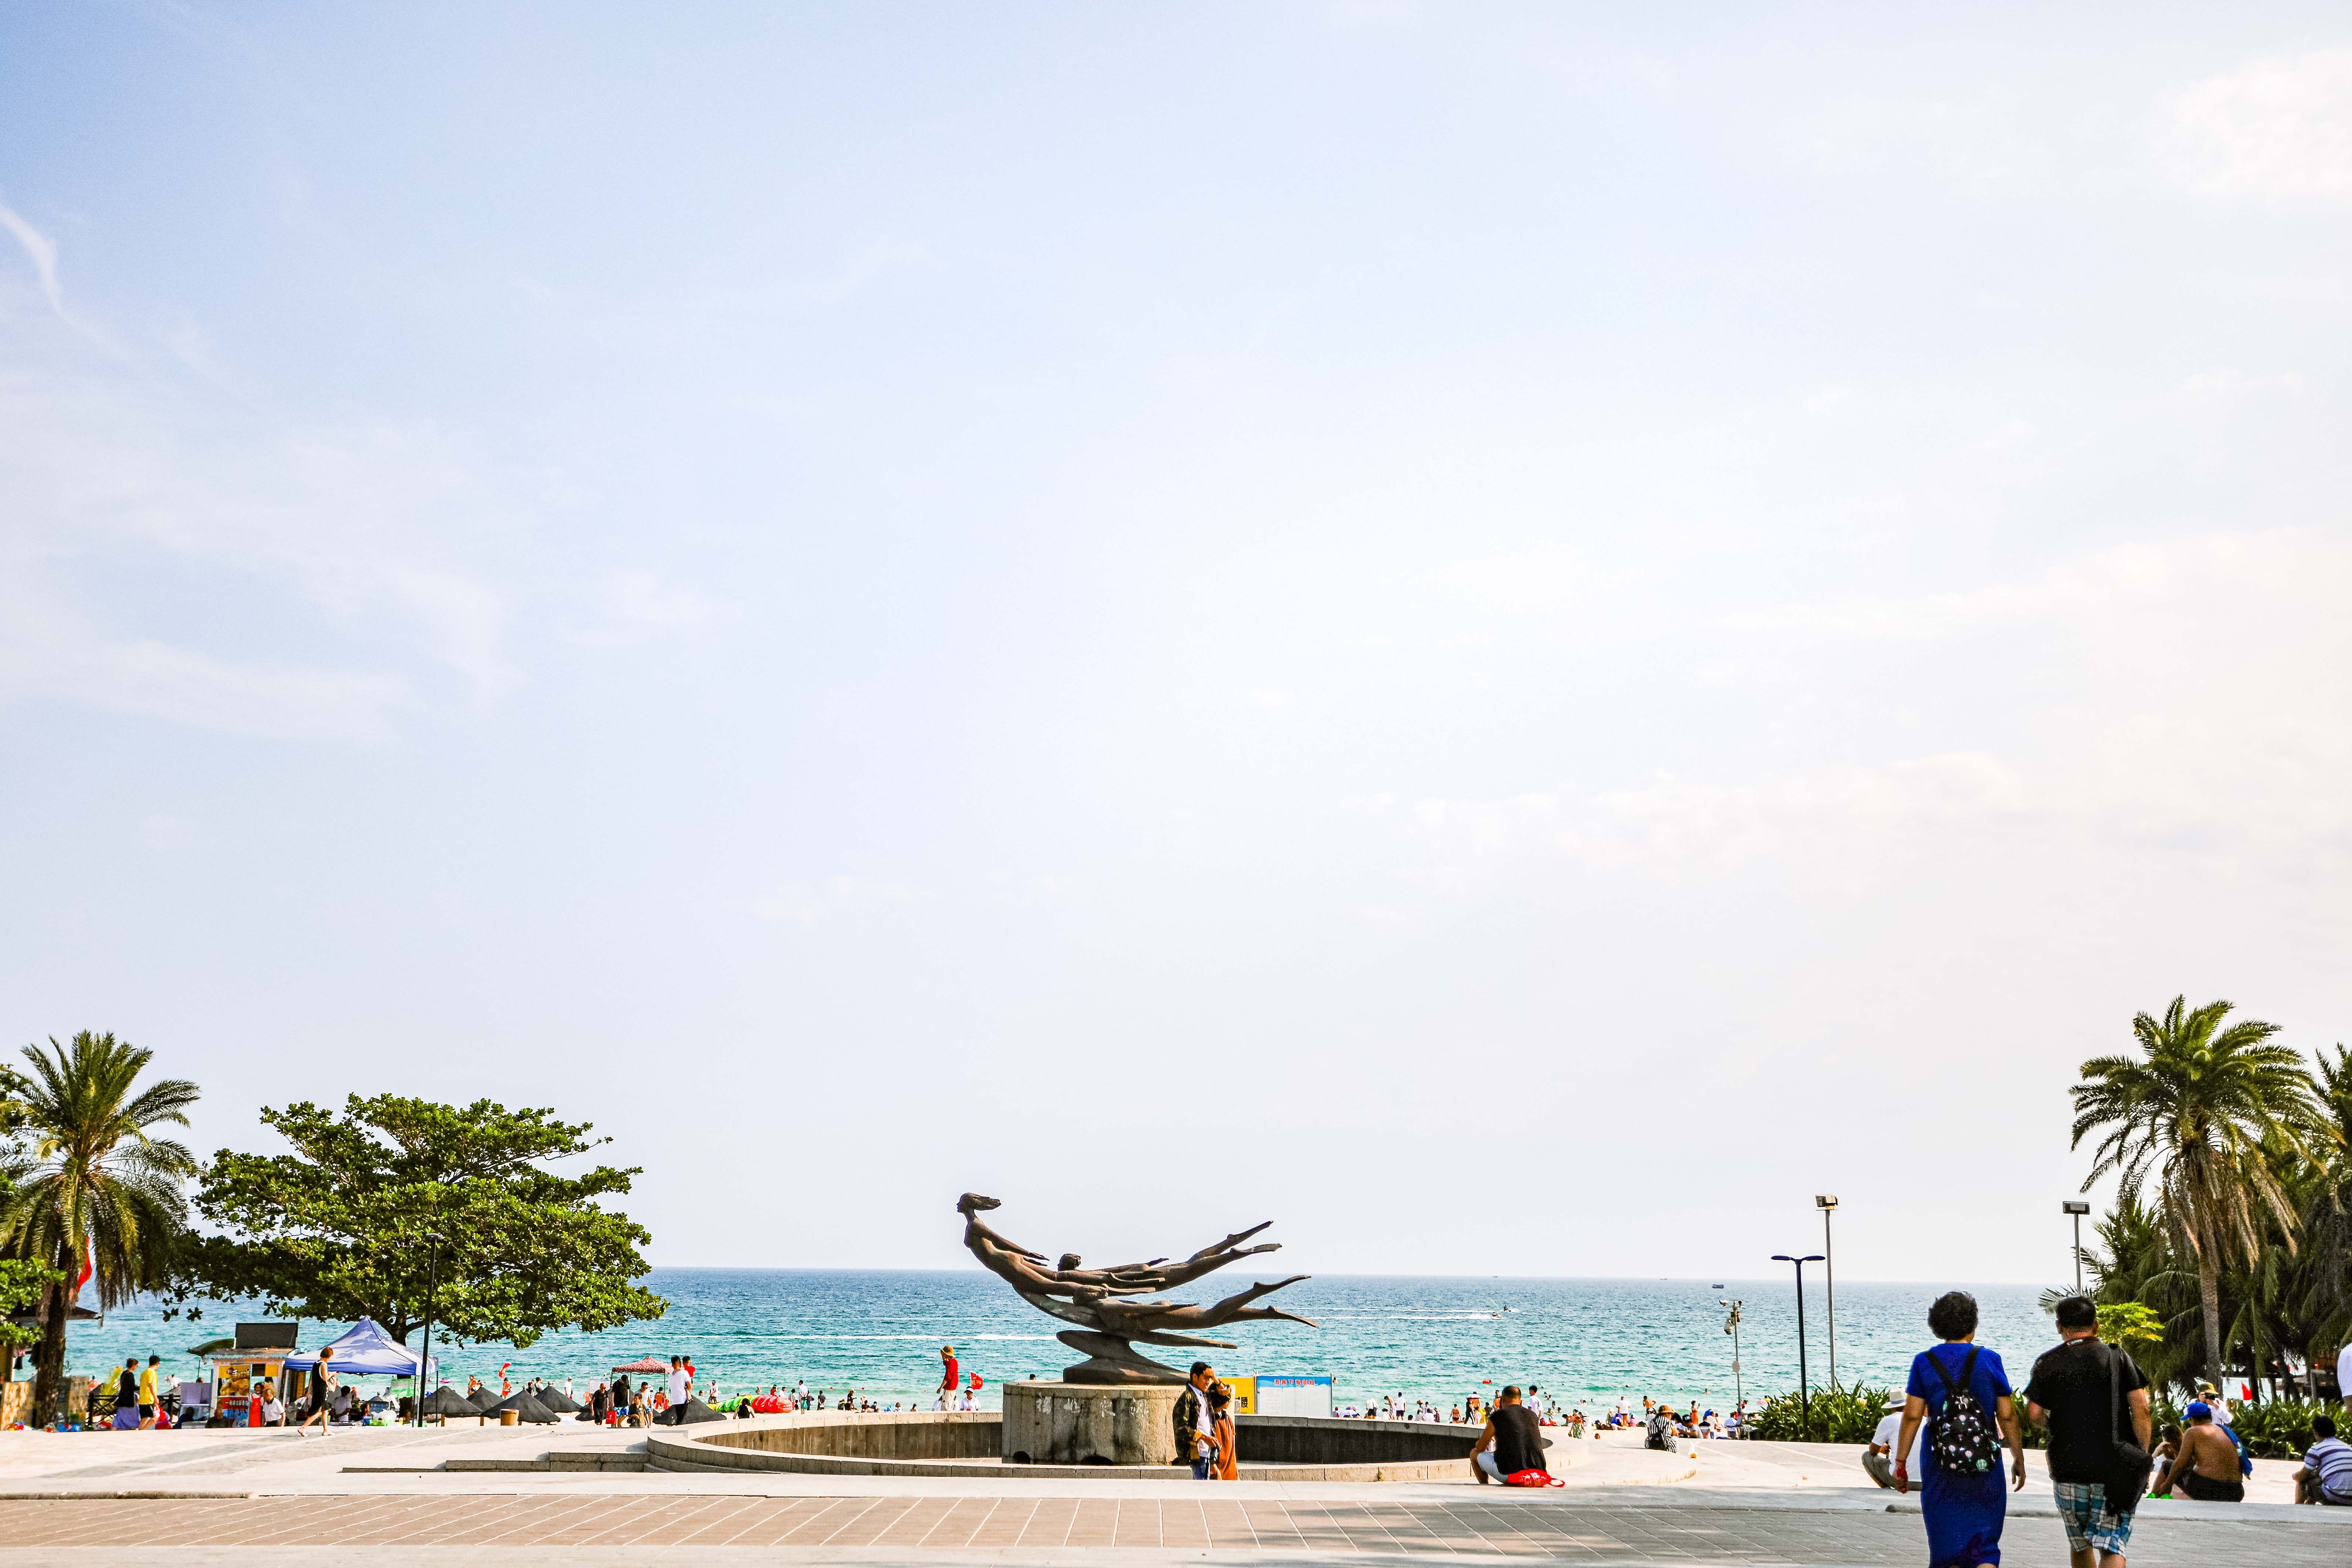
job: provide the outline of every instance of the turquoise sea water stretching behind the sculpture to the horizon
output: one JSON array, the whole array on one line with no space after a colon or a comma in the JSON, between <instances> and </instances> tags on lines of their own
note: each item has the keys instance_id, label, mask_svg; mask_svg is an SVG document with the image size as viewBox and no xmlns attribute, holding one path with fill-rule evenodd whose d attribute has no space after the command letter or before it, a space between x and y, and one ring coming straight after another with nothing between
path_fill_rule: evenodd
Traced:
<instances>
[{"instance_id":1,"label":"turquoise sea water stretching behind the sculpture to the horizon","mask_svg":"<svg viewBox=\"0 0 2352 1568\"><path fill-rule=\"evenodd\" d=\"M1011 1378L1058 1375L1080 1356L1054 1340L1044 1314L1023 1305L995 1274L971 1272L833 1272L833 1269L654 1269L647 1281L670 1298L668 1316L600 1335L555 1333L529 1349L510 1345L435 1345L442 1375L496 1382L513 1361L527 1375L581 1387L621 1361L684 1352L727 1389L790 1385L854 1387L882 1403L929 1399L938 1385L938 1347L955 1345L978 1371L995 1406ZM1898 1382L1926 1347L1926 1305L1947 1284L1842 1284L1837 1288L1837 1373L1851 1382ZM1966 1288L1966 1286L1964 1286ZM2023 1375L2056 1333L2034 1305L2032 1286L1976 1286L1983 1309L1978 1340ZM1797 1305L1785 1279L1406 1279L1322 1276L1291 1286L1282 1305L1317 1319L1240 1324L1218 1338L1240 1349L1214 1352L1221 1373L1329 1373L1338 1401L1383 1392L1454 1403L1491 1392L1484 1380L1538 1382L1557 1396L1611 1403L1618 1394L1698 1399L1729 1408L1731 1338L1717 1298L1745 1300L1740 1326L1745 1392L1797 1387ZM1828 1326L1818 1284L1806 1284L1811 1375L1828 1375ZM160 1352L179 1375L193 1375L186 1347L228 1333L238 1316L207 1307L202 1324L162 1321L151 1302L115 1312L103 1326L75 1324L68 1363L75 1373L120 1366L122 1356ZM310 1349L346 1324L303 1324ZM1181 1356L1183 1352L1164 1352ZM19 1371L19 1375L28 1375Z\"/></svg>"}]
</instances>

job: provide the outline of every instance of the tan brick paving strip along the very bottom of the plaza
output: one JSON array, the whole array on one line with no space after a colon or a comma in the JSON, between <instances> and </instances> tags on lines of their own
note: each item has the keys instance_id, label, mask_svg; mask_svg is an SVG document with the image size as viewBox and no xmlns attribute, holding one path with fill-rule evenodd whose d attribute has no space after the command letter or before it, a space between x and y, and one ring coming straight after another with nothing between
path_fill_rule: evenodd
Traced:
<instances>
[{"instance_id":1,"label":"tan brick paving strip along the very bottom of the plaza","mask_svg":"<svg viewBox=\"0 0 2352 1568\"><path fill-rule=\"evenodd\" d=\"M1738 1509L1661 1502L1258 1497L746 1497L746 1495L367 1495L247 1500L7 1500L0 1549L64 1547L849 1547L1023 1552L1073 1547L1543 1556L1635 1563L1900 1563L1917 1568L1917 1514ZM2352 1559L2326 1523L2143 1519L2138 1568L2244 1561L2296 1568ZM2056 1519L2011 1519L2011 1568L2060 1568Z\"/></svg>"}]
</instances>

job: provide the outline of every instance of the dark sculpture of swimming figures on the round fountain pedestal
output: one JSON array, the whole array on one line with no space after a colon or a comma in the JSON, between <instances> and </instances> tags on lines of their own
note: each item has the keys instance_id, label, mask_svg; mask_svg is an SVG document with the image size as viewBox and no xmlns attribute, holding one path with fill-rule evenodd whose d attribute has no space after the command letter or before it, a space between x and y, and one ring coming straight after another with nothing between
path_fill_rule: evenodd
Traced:
<instances>
[{"instance_id":1,"label":"dark sculpture of swimming figures on the round fountain pedestal","mask_svg":"<svg viewBox=\"0 0 2352 1568\"><path fill-rule=\"evenodd\" d=\"M1061 1342L1087 1354L1087 1361L1068 1368L1063 1382L1183 1382L1174 1366L1162 1366L1150 1356L1138 1356L1134 1342L1145 1345L1200 1345L1204 1349L1237 1349L1232 1340L1204 1340L1181 1328L1218 1328L1244 1319L1284 1319L1315 1328L1315 1319L1303 1319L1277 1307L1251 1307L1261 1295L1272 1295L1282 1286L1296 1286L1308 1274L1291 1274L1275 1284L1256 1284L1240 1295L1228 1295L1209 1307L1192 1302L1134 1300L1174 1291L1225 1267L1237 1258L1279 1251L1279 1241L1242 1246L1265 1225L1251 1225L1214 1246L1204 1246L1183 1262L1152 1258L1150 1262L1122 1262L1110 1269L1080 1267L1077 1253L1063 1253L1058 1265L1047 1265L1044 1253L1033 1253L1018 1241L1007 1241L981 1222L981 1213L997 1208L995 1199L967 1192L955 1199L955 1213L964 1215L964 1246L981 1265L1009 1284L1021 1300L1049 1316L1080 1328L1063 1328Z\"/></svg>"}]
</instances>

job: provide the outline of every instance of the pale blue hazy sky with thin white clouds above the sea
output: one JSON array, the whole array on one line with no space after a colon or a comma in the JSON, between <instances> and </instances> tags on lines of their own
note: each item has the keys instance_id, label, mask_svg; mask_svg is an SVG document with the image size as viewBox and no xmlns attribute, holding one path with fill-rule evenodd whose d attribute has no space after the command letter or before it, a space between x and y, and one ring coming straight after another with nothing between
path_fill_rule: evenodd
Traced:
<instances>
[{"instance_id":1,"label":"pale blue hazy sky with thin white clouds above the sea","mask_svg":"<svg viewBox=\"0 0 2352 1568\"><path fill-rule=\"evenodd\" d=\"M2051 1284L2352 1039L2340 7L0 5L0 1041L661 1265Z\"/></svg>"}]
</instances>

